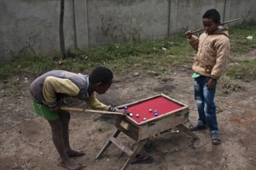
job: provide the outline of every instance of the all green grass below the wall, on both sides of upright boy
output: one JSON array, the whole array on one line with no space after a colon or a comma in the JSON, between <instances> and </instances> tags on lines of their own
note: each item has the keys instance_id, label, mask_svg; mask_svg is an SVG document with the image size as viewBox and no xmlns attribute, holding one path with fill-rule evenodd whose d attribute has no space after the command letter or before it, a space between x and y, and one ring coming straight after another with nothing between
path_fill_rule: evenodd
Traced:
<instances>
[{"instance_id":1,"label":"all green grass below the wall, on both sides of upright boy","mask_svg":"<svg viewBox=\"0 0 256 170\"><path fill-rule=\"evenodd\" d=\"M240 56L256 49L256 25L230 27L231 55ZM254 39L246 39L254 36ZM164 39L145 39L133 42L108 43L99 48L72 49L67 59L54 52L47 56L19 55L12 62L0 65L0 80L12 76L36 77L49 70L68 70L89 73L95 66L111 68L119 76L135 72L149 76L168 73L181 66L191 66L195 51L189 46L185 33ZM237 65L229 66L227 76L232 79L255 80L255 61L235 59Z\"/></svg>"}]
</instances>

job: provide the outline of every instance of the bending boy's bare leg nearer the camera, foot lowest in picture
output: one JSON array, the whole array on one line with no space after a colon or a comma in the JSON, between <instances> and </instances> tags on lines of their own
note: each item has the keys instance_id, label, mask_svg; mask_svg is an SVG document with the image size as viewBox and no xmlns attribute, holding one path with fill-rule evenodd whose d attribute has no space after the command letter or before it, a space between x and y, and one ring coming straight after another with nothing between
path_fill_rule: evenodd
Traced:
<instances>
[{"instance_id":1,"label":"bending boy's bare leg nearer the camera, foot lowest in picture","mask_svg":"<svg viewBox=\"0 0 256 170\"><path fill-rule=\"evenodd\" d=\"M64 147L64 139L63 139L63 124L61 119L57 119L56 121L48 121L50 124L50 128L52 131L52 138L54 141L55 148L60 155L60 164L64 168L68 168L71 170L79 170L84 168L84 165L81 165L78 162L74 162L71 158L68 157L65 147Z\"/></svg>"}]
</instances>

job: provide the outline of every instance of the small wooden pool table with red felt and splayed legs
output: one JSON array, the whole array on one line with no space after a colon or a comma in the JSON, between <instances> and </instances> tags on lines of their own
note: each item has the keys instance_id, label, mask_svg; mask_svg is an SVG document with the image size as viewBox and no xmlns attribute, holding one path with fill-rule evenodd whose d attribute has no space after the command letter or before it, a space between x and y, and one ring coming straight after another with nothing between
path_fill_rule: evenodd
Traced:
<instances>
[{"instance_id":1,"label":"small wooden pool table with red felt and splayed legs","mask_svg":"<svg viewBox=\"0 0 256 170\"><path fill-rule=\"evenodd\" d=\"M162 93L117 108L125 108L133 115L116 116L117 129L95 158L99 158L110 145L114 144L123 153L129 155L121 168L122 170L130 165L131 160L139 154L145 141L152 136L168 134L172 128L178 128L192 136L193 139L198 138L184 125L185 122L189 121L189 107ZM155 111L157 115L155 115ZM139 114L138 117L137 114ZM167 133L165 133L166 131ZM136 141L132 148L127 148L117 139L121 132Z\"/></svg>"}]
</instances>

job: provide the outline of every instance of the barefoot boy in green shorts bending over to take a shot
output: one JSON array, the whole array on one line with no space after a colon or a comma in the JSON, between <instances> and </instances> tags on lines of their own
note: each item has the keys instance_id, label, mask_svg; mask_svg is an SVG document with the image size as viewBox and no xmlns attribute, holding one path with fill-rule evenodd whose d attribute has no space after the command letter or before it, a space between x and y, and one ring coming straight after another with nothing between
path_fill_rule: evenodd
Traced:
<instances>
[{"instance_id":1,"label":"barefoot boy in green shorts bending over to take a shot","mask_svg":"<svg viewBox=\"0 0 256 170\"><path fill-rule=\"evenodd\" d=\"M53 70L44 73L31 83L29 91L33 97L35 112L49 122L52 139L60 155L59 165L64 168L72 170L83 168L83 165L74 162L70 157L85 155L85 152L71 149L69 144L71 115L67 110L61 110L61 100L64 97L75 97L85 100L86 104L95 110L124 112L102 104L95 97L95 92L106 93L112 84L112 78L111 70L98 66L90 75Z\"/></svg>"}]
</instances>

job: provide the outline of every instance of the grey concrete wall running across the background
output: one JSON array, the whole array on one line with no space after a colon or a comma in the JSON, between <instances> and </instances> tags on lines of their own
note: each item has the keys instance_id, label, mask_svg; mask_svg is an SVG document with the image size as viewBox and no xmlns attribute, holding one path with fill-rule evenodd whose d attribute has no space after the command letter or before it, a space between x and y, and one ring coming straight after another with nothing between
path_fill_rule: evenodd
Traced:
<instances>
[{"instance_id":1,"label":"grey concrete wall running across the background","mask_svg":"<svg viewBox=\"0 0 256 170\"><path fill-rule=\"evenodd\" d=\"M202 28L202 14L216 8L222 21L256 22L255 0L65 0L66 49L123 39L159 39ZM59 50L60 0L0 2L0 62L17 53Z\"/></svg>"}]
</instances>

